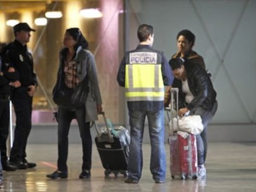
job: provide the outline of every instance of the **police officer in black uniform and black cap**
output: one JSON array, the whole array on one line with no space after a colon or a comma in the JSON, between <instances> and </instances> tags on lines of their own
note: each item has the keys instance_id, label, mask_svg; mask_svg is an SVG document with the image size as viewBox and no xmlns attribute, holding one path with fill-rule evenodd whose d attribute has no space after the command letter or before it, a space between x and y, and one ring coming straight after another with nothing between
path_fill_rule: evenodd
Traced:
<instances>
[{"instance_id":1,"label":"police officer in black uniform and black cap","mask_svg":"<svg viewBox=\"0 0 256 192\"><path fill-rule=\"evenodd\" d=\"M14 26L14 42L8 44L3 49L3 65L8 63L19 73L20 86L16 86L12 91L12 103L16 116L16 127L14 132L14 143L11 149L10 164L17 169L27 169L36 167L33 162L25 159L27 139L32 128L32 100L36 91L36 74L33 72L32 54L27 49L30 41L30 28L28 23L18 23Z\"/></svg>"}]
</instances>

